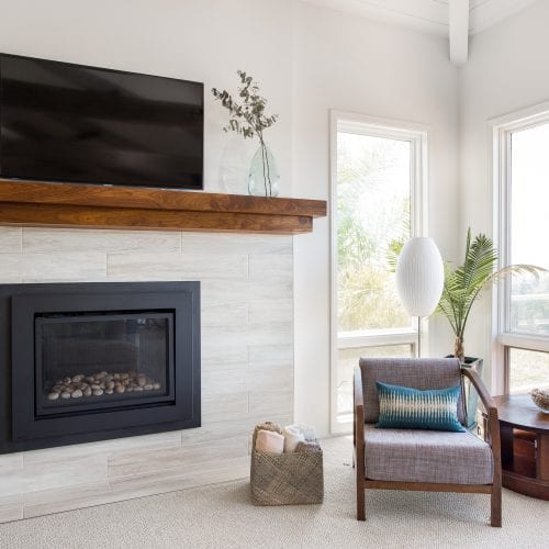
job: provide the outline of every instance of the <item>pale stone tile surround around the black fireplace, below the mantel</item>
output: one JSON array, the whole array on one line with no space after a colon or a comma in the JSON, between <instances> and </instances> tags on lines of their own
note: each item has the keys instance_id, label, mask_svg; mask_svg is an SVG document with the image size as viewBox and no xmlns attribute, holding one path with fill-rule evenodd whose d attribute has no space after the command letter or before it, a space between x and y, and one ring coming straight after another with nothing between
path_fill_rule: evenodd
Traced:
<instances>
[{"instance_id":1,"label":"pale stone tile surround around the black fireplace, below the mantel","mask_svg":"<svg viewBox=\"0 0 549 549\"><path fill-rule=\"evenodd\" d=\"M0 456L0 522L246 477L293 416L292 237L0 227L0 282L199 280L202 427Z\"/></svg>"}]
</instances>

